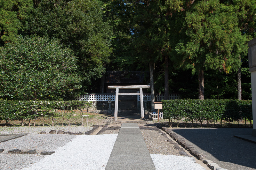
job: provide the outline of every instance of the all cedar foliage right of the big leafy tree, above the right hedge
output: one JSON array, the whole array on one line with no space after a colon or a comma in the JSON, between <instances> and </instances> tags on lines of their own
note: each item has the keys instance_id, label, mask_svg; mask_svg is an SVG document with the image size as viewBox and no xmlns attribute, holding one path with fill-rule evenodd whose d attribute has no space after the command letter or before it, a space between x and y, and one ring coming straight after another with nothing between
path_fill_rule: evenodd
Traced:
<instances>
[{"instance_id":1,"label":"all cedar foliage right of the big leafy tree, above the right hedge","mask_svg":"<svg viewBox=\"0 0 256 170\"><path fill-rule=\"evenodd\" d=\"M205 99L236 99L242 65L242 98L251 99L246 57L247 41L255 37L255 0L101 2L114 30L111 61L118 63L107 69L149 70L152 62L155 90L163 92L168 56L170 92L198 98L196 76L204 70Z\"/></svg>"}]
</instances>

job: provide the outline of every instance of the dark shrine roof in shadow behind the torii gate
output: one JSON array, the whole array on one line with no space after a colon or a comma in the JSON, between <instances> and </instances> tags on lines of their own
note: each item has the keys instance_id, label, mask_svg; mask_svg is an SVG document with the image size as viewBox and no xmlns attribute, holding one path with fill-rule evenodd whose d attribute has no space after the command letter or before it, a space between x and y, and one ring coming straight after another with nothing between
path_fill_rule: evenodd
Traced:
<instances>
[{"instance_id":1,"label":"dark shrine roof in shadow behind the torii gate","mask_svg":"<svg viewBox=\"0 0 256 170\"><path fill-rule=\"evenodd\" d=\"M148 71L106 71L105 83L144 83Z\"/></svg>"}]
</instances>

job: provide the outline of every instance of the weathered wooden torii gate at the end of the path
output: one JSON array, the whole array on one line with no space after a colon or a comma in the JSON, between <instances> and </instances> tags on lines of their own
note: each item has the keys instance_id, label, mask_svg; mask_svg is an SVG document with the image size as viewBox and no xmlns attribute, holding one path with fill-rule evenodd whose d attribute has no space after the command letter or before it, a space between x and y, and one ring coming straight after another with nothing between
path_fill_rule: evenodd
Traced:
<instances>
[{"instance_id":1,"label":"weathered wooden torii gate at the end of the path","mask_svg":"<svg viewBox=\"0 0 256 170\"><path fill-rule=\"evenodd\" d=\"M143 107L143 93L142 89L149 89L150 85L109 85L108 89L116 89L116 101L115 101L115 114L114 120L117 121L117 111L118 111L118 95L140 95L140 113L142 120L144 118L144 107ZM119 93L119 89L140 89L139 93Z\"/></svg>"}]
</instances>

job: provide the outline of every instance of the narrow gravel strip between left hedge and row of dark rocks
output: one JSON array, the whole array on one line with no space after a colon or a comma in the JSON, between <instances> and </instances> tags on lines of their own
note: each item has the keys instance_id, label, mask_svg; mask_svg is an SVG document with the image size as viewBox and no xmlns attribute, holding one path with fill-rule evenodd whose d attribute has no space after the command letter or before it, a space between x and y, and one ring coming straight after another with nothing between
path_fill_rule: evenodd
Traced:
<instances>
[{"instance_id":1,"label":"narrow gravel strip between left hedge and row of dark rocks","mask_svg":"<svg viewBox=\"0 0 256 170\"><path fill-rule=\"evenodd\" d=\"M8 134L8 133L29 133L29 134L38 134L41 131L45 131L49 133L50 130L58 130L70 131L70 132L87 132L91 130L93 127L87 126L15 126L15 127L0 127L0 134Z\"/></svg>"}]
</instances>

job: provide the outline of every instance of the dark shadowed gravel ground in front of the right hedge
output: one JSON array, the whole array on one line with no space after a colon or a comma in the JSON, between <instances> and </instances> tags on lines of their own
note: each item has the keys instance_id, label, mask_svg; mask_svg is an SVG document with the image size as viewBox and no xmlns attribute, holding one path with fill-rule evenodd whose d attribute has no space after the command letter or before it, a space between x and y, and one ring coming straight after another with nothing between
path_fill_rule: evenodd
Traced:
<instances>
[{"instance_id":1,"label":"dark shadowed gravel ground in front of the right hedge","mask_svg":"<svg viewBox=\"0 0 256 170\"><path fill-rule=\"evenodd\" d=\"M170 128L205 158L229 170L256 170L256 144L234 137L251 135L247 128Z\"/></svg>"}]
</instances>

